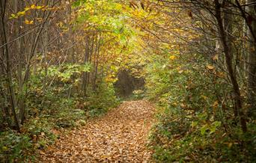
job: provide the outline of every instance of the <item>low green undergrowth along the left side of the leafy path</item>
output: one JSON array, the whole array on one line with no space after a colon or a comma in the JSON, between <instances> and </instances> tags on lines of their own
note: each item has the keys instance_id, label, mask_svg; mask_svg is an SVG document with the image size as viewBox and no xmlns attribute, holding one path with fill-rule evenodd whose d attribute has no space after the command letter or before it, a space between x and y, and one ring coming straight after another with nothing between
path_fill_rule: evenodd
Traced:
<instances>
[{"instance_id":1,"label":"low green undergrowth along the left side of the leafy path","mask_svg":"<svg viewBox=\"0 0 256 163\"><path fill-rule=\"evenodd\" d=\"M114 87L109 83L100 84L97 90L89 90L84 98L77 93L68 96L69 85L60 83L58 79L43 91L42 76L31 78L26 100L28 117L21 126L21 132L2 128L1 162L33 161L37 157L35 151L54 144L60 135L84 126L89 119L105 114L119 103Z\"/></svg>"}]
</instances>

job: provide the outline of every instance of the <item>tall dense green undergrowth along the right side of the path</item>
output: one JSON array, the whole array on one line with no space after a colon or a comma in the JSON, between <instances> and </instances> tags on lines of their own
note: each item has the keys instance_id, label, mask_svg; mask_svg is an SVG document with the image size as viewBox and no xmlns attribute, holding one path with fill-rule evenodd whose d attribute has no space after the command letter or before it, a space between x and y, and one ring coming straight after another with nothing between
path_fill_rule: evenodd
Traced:
<instances>
[{"instance_id":1,"label":"tall dense green undergrowth along the right side of the path","mask_svg":"<svg viewBox=\"0 0 256 163\"><path fill-rule=\"evenodd\" d=\"M156 162L254 162L255 122L242 132L220 70L196 54L161 56L146 67L144 94L158 108L149 144Z\"/></svg>"}]
</instances>

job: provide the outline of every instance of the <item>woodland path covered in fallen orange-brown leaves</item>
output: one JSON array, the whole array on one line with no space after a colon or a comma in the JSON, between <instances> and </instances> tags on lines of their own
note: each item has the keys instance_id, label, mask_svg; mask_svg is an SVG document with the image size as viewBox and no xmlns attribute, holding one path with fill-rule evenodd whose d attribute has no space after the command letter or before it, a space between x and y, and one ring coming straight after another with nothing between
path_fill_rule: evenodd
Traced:
<instances>
[{"instance_id":1,"label":"woodland path covered in fallen orange-brown leaves","mask_svg":"<svg viewBox=\"0 0 256 163\"><path fill-rule=\"evenodd\" d=\"M153 112L145 100L123 102L58 139L40 154L40 162L150 162L145 145Z\"/></svg>"}]
</instances>

